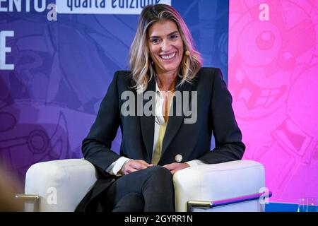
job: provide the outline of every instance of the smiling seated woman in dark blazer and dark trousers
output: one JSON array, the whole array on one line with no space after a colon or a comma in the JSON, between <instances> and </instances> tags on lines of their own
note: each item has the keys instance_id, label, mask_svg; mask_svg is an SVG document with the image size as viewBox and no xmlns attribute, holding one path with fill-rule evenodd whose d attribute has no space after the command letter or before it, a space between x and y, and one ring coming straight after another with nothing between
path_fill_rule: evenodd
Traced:
<instances>
[{"instance_id":1,"label":"smiling seated woman in dark blazer and dark trousers","mask_svg":"<svg viewBox=\"0 0 318 226\"><path fill-rule=\"evenodd\" d=\"M240 160L245 151L221 72L201 68L189 29L174 8L143 8L130 67L114 74L83 141L83 155L100 179L79 211L174 211L175 172ZM140 112L146 106L152 114ZM119 126L120 155L110 150Z\"/></svg>"}]
</instances>

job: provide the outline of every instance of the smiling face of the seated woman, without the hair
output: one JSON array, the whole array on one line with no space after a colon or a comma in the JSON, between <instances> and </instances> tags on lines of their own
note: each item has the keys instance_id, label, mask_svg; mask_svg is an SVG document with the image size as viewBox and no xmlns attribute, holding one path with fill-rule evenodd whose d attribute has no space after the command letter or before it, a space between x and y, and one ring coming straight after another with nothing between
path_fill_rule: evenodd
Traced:
<instances>
[{"instance_id":1,"label":"smiling face of the seated woman, without the hair","mask_svg":"<svg viewBox=\"0 0 318 226\"><path fill-rule=\"evenodd\" d=\"M174 22L163 20L151 25L148 29L148 48L156 73L175 73L179 69L183 41Z\"/></svg>"}]
</instances>

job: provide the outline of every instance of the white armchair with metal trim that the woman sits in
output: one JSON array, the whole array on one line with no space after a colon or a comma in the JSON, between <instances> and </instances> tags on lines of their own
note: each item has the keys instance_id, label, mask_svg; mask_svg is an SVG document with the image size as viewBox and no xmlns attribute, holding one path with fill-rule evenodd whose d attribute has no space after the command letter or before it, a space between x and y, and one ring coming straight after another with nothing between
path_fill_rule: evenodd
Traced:
<instances>
[{"instance_id":1,"label":"white armchair with metal trim that the woman sits in","mask_svg":"<svg viewBox=\"0 0 318 226\"><path fill-rule=\"evenodd\" d=\"M25 178L25 211L73 211L97 179L83 159L32 165ZM188 167L175 173L176 211L264 211L259 202L264 167L240 160Z\"/></svg>"}]
</instances>

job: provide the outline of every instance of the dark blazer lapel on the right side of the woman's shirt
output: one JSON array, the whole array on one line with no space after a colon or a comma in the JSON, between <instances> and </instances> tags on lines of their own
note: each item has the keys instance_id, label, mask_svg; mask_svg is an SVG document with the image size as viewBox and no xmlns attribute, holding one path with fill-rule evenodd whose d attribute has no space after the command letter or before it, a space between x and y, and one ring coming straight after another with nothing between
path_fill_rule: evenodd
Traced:
<instances>
[{"instance_id":1,"label":"dark blazer lapel on the right side of the woman's shirt","mask_svg":"<svg viewBox=\"0 0 318 226\"><path fill-rule=\"evenodd\" d=\"M177 84L179 83L181 79L178 77ZM184 91L189 92L189 102L185 103L186 105L191 106L191 91L192 91L192 84L185 82L182 85L178 86L176 91L179 91L181 93L181 100L182 103L176 103L176 98L173 97L172 100L172 106L173 106L173 114L169 115L168 121L167 121L167 129L165 130L165 136L163 136L163 147L161 150L161 153L165 153L165 150L167 150L168 146L172 142L173 138L175 138L175 135L177 134L177 131L179 131L179 128L184 120L184 112L183 112L183 104L184 104L184 98L183 94ZM181 106L181 116L176 115L176 109L177 104ZM189 107L189 106L188 106Z\"/></svg>"}]
</instances>

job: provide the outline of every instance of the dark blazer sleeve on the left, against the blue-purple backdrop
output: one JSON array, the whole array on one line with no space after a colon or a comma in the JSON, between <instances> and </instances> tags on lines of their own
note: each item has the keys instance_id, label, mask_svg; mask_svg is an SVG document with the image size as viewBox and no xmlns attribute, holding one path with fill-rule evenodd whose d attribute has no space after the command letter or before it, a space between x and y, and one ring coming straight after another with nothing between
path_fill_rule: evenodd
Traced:
<instances>
[{"instance_id":1,"label":"dark blazer sleeve on the left, against the blue-purple backdrop","mask_svg":"<svg viewBox=\"0 0 318 226\"><path fill-rule=\"evenodd\" d=\"M110 149L120 124L118 74L119 71L114 74L95 122L82 143L83 156L102 173L120 157Z\"/></svg>"}]
</instances>

